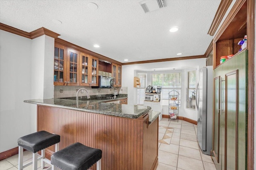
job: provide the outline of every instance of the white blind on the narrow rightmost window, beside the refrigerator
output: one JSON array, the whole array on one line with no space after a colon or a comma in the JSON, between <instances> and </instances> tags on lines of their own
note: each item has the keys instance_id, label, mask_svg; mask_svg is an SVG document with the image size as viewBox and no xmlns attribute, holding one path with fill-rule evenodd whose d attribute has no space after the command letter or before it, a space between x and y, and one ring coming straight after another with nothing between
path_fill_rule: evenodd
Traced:
<instances>
[{"instance_id":1,"label":"white blind on the narrow rightmost window, beside the refrigerator","mask_svg":"<svg viewBox=\"0 0 256 170\"><path fill-rule=\"evenodd\" d=\"M186 107L196 108L196 71L189 71L187 74L188 86L186 91Z\"/></svg>"}]
</instances>

